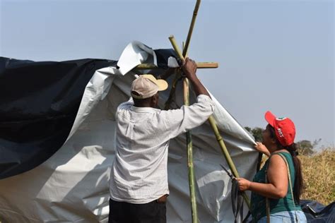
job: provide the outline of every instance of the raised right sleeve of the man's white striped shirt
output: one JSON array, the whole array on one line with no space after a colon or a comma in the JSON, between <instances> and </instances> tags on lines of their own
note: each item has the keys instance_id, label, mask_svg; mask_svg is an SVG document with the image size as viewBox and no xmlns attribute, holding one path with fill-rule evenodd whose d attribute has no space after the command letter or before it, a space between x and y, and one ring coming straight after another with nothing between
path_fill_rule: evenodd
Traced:
<instances>
[{"instance_id":1,"label":"raised right sleeve of the man's white striped shirt","mask_svg":"<svg viewBox=\"0 0 335 223\"><path fill-rule=\"evenodd\" d=\"M163 116L169 138L175 138L181 133L201 126L213 114L215 104L211 100L211 97L199 95L196 100L197 102L191 106L182 106L180 109L162 111L164 112Z\"/></svg>"}]
</instances>

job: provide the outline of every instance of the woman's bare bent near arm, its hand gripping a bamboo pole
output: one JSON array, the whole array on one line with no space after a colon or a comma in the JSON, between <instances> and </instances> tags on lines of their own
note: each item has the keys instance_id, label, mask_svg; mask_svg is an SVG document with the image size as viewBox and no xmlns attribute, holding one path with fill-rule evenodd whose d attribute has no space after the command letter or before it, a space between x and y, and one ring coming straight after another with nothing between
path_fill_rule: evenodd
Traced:
<instances>
[{"instance_id":1,"label":"woman's bare bent near arm, its hand gripping a bamboo pole","mask_svg":"<svg viewBox=\"0 0 335 223\"><path fill-rule=\"evenodd\" d=\"M268 168L269 183L256 183L237 178L240 191L253 191L267 198L284 198L288 193L288 170L279 155L273 155Z\"/></svg>"}]
</instances>

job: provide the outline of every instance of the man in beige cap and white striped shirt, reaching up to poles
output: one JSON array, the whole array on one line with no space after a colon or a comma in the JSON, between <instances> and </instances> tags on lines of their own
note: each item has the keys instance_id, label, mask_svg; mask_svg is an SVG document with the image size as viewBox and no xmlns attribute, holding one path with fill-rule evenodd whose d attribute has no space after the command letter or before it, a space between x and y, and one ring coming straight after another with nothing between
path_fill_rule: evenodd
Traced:
<instances>
[{"instance_id":1,"label":"man in beige cap and white striped shirt, reaching up to poles","mask_svg":"<svg viewBox=\"0 0 335 223\"><path fill-rule=\"evenodd\" d=\"M166 222L167 150L170 139L200 126L214 103L196 77L196 63L186 59L197 102L181 109L156 109L165 80L142 75L131 85L131 97L117 108L115 157L110 176L109 222Z\"/></svg>"}]
</instances>

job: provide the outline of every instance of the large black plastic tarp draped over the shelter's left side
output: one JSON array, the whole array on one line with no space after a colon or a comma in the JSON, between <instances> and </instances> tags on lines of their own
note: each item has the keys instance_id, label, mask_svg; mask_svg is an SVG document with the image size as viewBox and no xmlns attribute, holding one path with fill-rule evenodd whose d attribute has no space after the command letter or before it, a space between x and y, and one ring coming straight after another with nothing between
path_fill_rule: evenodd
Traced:
<instances>
[{"instance_id":1,"label":"large black plastic tarp draped over the shelter's left side","mask_svg":"<svg viewBox=\"0 0 335 223\"><path fill-rule=\"evenodd\" d=\"M86 85L117 61L0 57L0 179L45 162L69 136Z\"/></svg>"}]
</instances>

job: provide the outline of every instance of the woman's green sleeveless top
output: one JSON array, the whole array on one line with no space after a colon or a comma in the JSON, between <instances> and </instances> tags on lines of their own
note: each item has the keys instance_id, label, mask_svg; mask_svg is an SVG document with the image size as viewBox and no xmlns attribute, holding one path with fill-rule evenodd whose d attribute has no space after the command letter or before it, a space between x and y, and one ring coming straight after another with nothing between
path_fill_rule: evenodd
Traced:
<instances>
[{"instance_id":1,"label":"woman's green sleeveless top","mask_svg":"<svg viewBox=\"0 0 335 223\"><path fill-rule=\"evenodd\" d=\"M278 152L278 153L286 157L288 167L290 168L290 179L292 181L292 187L293 187L295 182L295 169L293 164L293 158L288 152ZM272 155L274 154L276 153L273 153ZM254 179L252 179L253 182L265 183L265 177L266 177L265 174L266 169L268 169L269 166L270 158L266 160L263 168L261 168L261 170L259 170L257 174L254 176ZM293 203L292 193L290 192L290 183L288 183L288 193L286 194L286 197L280 199L269 198L269 205L270 205L270 215L283 211L301 210L298 204ZM252 218L254 219L254 222L257 222L259 219L261 219L261 217L266 216L266 204L264 196L252 192L250 212L252 213Z\"/></svg>"}]
</instances>

